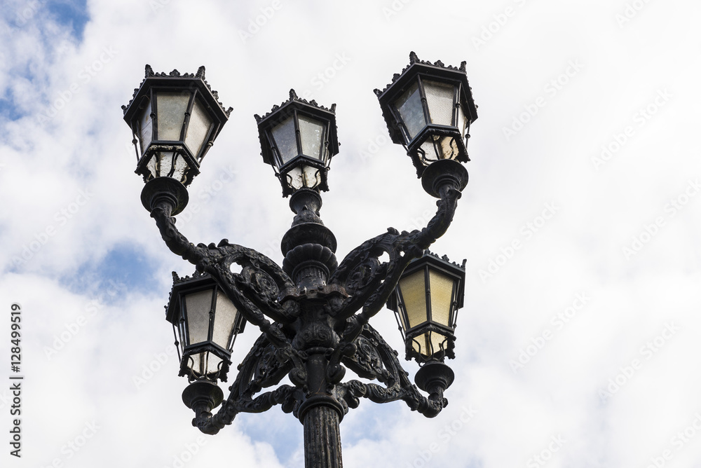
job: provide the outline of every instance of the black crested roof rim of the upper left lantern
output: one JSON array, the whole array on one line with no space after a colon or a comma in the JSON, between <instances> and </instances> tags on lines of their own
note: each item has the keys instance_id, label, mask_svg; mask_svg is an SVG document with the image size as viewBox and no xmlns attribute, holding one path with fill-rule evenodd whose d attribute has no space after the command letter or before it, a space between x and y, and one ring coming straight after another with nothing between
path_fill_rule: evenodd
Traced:
<instances>
[{"instance_id":1,"label":"black crested roof rim of the upper left lantern","mask_svg":"<svg viewBox=\"0 0 701 468\"><path fill-rule=\"evenodd\" d=\"M154 72L151 65L147 64L144 80L139 85L139 88L135 88L134 95L132 95L129 104L122 106L124 120L127 122L132 121L134 114L139 108L139 105L132 104L139 104L152 87L163 86L177 88L178 85L184 85L185 83L187 83L188 87L191 85L196 86L205 104L216 114L217 120L227 121L229 119L229 114L231 114L233 108L229 107L229 109L224 109L224 105L219 102L219 93L212 90L209 83L205 80L205 67L199 67L195 74L181 74L177 69L173 69L173 71L166 74L165 71L160 73Z\"/></svg>"}]
</instances>

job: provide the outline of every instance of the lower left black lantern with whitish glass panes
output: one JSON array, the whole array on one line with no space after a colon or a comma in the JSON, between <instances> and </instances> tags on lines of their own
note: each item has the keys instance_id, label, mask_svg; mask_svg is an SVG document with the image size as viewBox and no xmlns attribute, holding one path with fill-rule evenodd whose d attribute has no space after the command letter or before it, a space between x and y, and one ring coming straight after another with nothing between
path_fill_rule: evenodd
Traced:
<instances>
[{"instance_id":1,"label":"lower left black lantern with whitish glass panes","mask_svg":"<svg viewBox=\"0 0 701 468\"><path fill-rule=\"evenodd\" d=\"M173 287L166 319L177 331L181 353L179 376L226 382L231 351L245 321L217 282L207 274L180 278Z\"/></svg>"}]
</instances>

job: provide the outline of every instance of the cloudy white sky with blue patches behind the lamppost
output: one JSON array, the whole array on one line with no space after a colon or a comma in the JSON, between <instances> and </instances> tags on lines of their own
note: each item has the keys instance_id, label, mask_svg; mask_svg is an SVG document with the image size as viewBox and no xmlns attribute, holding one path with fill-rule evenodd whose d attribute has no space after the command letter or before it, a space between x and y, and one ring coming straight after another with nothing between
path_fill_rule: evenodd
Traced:
<instances>
[{"instance_id":1,"label":"cloudy white sky with blue patches behind the lamppost","mask_svg":"<svg viewBox=\"0 0 701 468\"><path fill-rule=\"evenodd\" d=\"M170 272L193 266L141 205L121 105L145 64L204 65L233 111L179 229L280 263L293 215L253 115L290 88L336 103L321 216L342 259L435 210L373 93L413 50L465 60L479 106L470 183L432 247L467 260L456 380L433 419L361 401L344 466L701 467L700 20L692 0L4 1L0 465L304 466L279 406L217 436L191 427L164 306ZM389 310L371 323L402 349Z\"/></svg>"}]
</instances>

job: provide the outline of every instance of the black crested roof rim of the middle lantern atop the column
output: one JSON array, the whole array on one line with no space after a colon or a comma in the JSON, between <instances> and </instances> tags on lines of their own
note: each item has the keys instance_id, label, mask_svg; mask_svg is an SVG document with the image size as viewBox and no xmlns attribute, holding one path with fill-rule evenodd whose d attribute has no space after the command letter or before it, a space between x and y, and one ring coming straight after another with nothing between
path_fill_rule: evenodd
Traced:
<instances>
[{"instance_id":1,"label":"black crested roof rim of the middle lantern atop the column","mask_svg":"<svg viewBox=\"0 0 701 468\"><path fill-rule=\"evenodd\" d=\"M336 104L331 104L331 107L328 108L318 104L314 99L307 101L306 99L297 96L297 92L295 92L294 89L290 89L290 97L285 102L279 106L277 104L273 105L273 109L262 117L257 113L254 114L258 125L261 156L263 156L264 163L273 163L273 153L268 148L268 142L264 134L264 129L273 126L275 123L283 121L285 117L290 116L292 113L291 111L294 109L311 114L311 116L321 118L322 120L329 121L329 134L327 135L329 142L329 160L338 154L340 144L338 140L339 130L336 126ZM268 120L270 120L270 122L266 122Z\"/></svg>"}]
</instances>

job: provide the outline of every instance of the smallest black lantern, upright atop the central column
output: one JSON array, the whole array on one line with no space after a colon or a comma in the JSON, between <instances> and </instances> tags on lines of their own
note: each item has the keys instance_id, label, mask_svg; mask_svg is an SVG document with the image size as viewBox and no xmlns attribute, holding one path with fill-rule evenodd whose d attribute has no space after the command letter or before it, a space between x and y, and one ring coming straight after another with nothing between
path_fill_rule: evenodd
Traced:
<instances>
[{"instance_id":1,"label":"smallest black lantern, upright atop the central column","mask_svg":"<svg viewBox=\"0 0 701 468\"><path fill-rule=\"evenodd\" d=\"M273 166L287 197L300 188L328 191L327 172L339 152L336 104L330 109L290 90L290 98L264 116L255 114L261 156Z\"/></svg>"}]
</instances>

